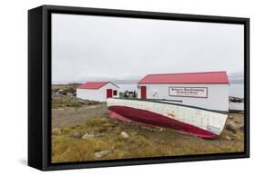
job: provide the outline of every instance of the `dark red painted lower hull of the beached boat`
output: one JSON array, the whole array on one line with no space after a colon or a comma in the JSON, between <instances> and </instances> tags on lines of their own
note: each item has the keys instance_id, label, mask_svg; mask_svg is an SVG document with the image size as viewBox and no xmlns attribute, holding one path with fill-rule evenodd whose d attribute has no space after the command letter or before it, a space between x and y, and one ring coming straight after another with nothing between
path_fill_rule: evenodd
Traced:
<instances>
[{"instance_id":1,"label":"dark red painted lower hull of the beached boat","mask_svg":"<svg viewBox=\"0 0 256 176\"><path fill-rule=\"evenodd\" d=\"M169 127L180 132L201 138L217 138L219 135L209 132L185 122L179 122L174 118L164 116L156 112L131 108L128 106L109 106L109 117L123 122L138 122L159 127Z\"/></svg>"}]
</instances>

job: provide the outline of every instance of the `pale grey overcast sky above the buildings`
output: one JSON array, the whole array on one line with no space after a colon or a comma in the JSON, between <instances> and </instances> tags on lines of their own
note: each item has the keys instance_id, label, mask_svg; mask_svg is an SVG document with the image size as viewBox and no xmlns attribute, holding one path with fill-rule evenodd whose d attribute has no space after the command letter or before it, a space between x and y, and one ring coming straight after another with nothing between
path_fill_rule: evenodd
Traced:
<instances>
[{"instance_id":1,"label":"pale grey overcast sky above the buildings","mask_svg":"<svg viewBox=\"0 0 256 176\"><path fill-rule=\"evenodd\" d=\"M243 25L92 15L52 16L52 79L243 72Z\"/></svg>"}]
</instances>

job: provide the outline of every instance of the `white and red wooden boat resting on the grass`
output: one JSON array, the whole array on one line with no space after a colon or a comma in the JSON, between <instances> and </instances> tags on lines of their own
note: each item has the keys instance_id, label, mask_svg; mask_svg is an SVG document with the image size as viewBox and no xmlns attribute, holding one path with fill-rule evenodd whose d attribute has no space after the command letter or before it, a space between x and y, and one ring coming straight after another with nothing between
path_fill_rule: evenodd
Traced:
<instances>
[{"instance_id":1,"label":"white and red wooden boat resting on the grass","mask_svg":"<svg viewBox=\"0 0 256 176\"><path fill-rule=\"evenodd\" d=\"M110 98L107 104L111 118L169 127L209 139L220 135L228 117L228 112L160 100Z\"/></svg>"}]
</instances>

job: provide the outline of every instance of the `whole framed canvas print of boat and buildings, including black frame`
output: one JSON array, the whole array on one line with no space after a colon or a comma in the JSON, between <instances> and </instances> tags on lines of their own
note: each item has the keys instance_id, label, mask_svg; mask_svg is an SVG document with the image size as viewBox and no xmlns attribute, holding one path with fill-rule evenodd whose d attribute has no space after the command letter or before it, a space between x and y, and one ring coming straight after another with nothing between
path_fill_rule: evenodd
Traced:
<instances>
[{"instance_id":1,"label":"whole framed canvas print of boat and buildings, including black frame","mask_svg":"<svg viewBox=\"0 0 256 176\"><path fill-rule=\"evenodd\" d=\"M249 18L28 11L28 165L249 157Z\"/></svg>"}]
</instances>

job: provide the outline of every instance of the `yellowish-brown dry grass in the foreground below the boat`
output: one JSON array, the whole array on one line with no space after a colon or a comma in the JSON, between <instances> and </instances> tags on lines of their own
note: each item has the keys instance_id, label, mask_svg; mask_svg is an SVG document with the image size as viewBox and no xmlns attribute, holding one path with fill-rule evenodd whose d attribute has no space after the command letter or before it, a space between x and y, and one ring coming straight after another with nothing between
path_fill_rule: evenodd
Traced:
<instances>
[{"instance_id":1,"label":"yellowish-brown dry grass in the foreground below the boat","mask_svg":"<svg viewBox=\"0 0 256 176\"><path fill-rule=\"evenodd\" d=\"M64 126L52 132L52 161L93 161L126 158L145 158L188 154L242 152L243 132L227 130L216 140L204 140L181 134L171 129L142 127L133 123L115 121L106 117L88 118L84 123ZM128 132L123 139L120 132ZM75 139L74 132L100 134L92 139ZM233 141L226 139L233 138ZM96 159L94 152L111 151L107 156Z\"/></svg>"}]
</instances>

